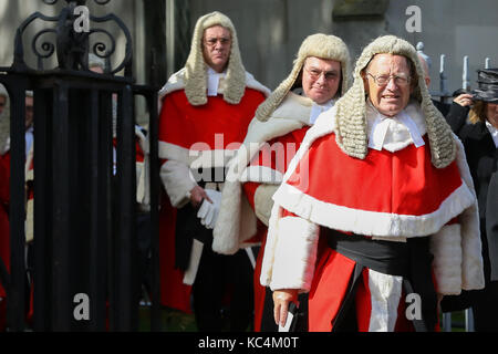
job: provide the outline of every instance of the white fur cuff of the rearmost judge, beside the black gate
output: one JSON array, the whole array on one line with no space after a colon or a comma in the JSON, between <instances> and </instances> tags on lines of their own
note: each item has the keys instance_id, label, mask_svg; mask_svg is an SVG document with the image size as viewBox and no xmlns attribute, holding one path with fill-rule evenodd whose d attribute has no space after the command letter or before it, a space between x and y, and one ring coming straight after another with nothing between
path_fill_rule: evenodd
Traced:
<instances>
[{"instance_id":1,"label":"white fur cuff of the rearmost judge, beside the black gate","mask_svg":"<svg viewBox=\"0 0 498 354\"><path fill-rule=\"evenodd\" d=\"M180 208L188 202L188 192L197 185L190 169L176 160L167 160L160 167L160 180L172 206Z\"/></svg>"}]
</instances>

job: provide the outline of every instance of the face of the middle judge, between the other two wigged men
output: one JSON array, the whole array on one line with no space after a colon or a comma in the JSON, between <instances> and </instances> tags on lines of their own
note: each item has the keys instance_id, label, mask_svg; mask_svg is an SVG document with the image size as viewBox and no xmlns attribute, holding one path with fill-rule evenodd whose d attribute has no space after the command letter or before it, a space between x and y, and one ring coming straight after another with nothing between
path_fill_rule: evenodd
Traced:
<instances>
[{"instance_id":1,"label":"face of the middle judge, between the other two wigged men","mask_svg":"<svg viewBox=\"0 0 498 354\"><path fill-rule=\"evenodd\" d=\"M338 93L341 82L341 63L310 56L302 71L302 90L314 103L324 104Z\"/></svg>"}]
</instances>

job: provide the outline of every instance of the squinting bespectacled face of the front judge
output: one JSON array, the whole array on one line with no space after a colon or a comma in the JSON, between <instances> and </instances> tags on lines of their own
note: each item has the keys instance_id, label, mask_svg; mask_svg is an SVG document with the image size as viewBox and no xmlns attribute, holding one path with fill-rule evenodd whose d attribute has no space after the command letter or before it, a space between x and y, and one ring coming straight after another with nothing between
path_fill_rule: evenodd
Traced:
<instances>
[{"instance_id":1,"label":"squinting bespectacled face of the front judge","mask_svg":"<svg viewBox=\"0 0 498 354\"><path fill-rule=\"evenodd\" d=\"M363 81L370 101L385 116L395 116L409 102L413 86L409 65L403 55L376 54L364 72Z\"/></svg>"}]
</instances>

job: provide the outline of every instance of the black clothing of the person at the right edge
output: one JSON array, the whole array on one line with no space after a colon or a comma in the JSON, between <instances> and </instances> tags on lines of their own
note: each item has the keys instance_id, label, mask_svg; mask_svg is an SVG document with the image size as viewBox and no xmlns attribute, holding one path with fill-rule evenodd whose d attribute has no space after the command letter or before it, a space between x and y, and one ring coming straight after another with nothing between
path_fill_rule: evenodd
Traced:
<instances>
[{"instance_id":1,"label":"black clothing of the person at the right edge","mask_svg":"<svg viewBox=\"0 0 498 354\"><path fill-rule=\"evenodd\" d=\"M498 331L498 149L485 123L461 125L461 117L448 123L461 126L456 133L465 146L476 188L486 288L464 292L460 300L473 306L476 331Z\"/></svg>"}]
</instances>

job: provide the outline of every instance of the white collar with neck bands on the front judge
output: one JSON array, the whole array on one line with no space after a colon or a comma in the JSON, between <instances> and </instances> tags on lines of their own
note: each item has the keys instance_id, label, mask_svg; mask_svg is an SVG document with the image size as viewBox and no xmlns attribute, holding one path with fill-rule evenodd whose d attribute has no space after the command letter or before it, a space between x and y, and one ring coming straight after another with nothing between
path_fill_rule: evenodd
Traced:
<instances>
[{"instance_id":1,"label":"white collar with neck bands on the front judge","mask_svg":"<svg viewBox=\"0 0 498 354\"><path fill-rule=\"evenodd\" d=\"M416 147L425 145L422 137L426 133L425 119L416 102L411 102L394 117L387 117L381 114L369 100L366 122L370 148L396 152L411 144Z\"/></svg>"}]
</instances>

